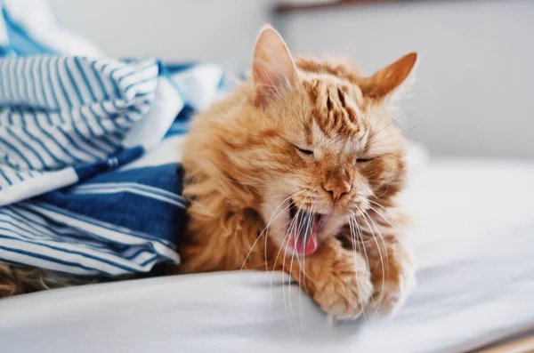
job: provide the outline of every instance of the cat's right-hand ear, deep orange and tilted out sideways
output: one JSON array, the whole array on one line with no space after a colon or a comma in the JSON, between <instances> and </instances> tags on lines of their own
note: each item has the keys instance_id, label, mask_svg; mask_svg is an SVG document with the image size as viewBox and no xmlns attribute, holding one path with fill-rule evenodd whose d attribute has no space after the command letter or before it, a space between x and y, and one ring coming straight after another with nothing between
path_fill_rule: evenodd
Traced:
<instances>
[{"instance_id":1,"label":"cat's right-hand ear, deep orange and tilted out sideways","mask_svg":"<svg viewBox=\"0 0 534 353\"><path fill-rule=\"evenodd\" d=\"M398 96L399 92L409 89L414 81L414 71L417 63L417 52L410 52L391 65L377 71L373 76L365 78L360 84L364 95L375 98L391 98Z\"/></svg>"}]
</instances>

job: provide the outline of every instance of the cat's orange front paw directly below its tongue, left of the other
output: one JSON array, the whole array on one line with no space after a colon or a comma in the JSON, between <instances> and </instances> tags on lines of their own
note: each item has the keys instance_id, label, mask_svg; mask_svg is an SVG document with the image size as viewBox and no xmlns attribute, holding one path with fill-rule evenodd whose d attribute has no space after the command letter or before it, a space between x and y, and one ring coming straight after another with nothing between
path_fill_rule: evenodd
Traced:
<instances>
[{"instance_id":1,"label":"cat's orange front paw directly below its tongue, left of the other","mask_svg":"<svg viewBox=\"0 0 534 353\"><path fill-rule=\"evenodd\" d=\"M344 252L315 277L313 300L337 319L360 317L373 294L370 272L360 254Z\"/></svg>"}]
</instances>

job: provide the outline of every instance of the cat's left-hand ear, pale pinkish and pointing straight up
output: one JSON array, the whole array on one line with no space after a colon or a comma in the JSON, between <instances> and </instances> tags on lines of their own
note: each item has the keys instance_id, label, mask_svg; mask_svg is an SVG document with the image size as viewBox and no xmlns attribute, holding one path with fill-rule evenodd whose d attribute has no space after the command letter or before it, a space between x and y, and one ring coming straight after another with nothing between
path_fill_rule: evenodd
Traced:
<instances>
[{"instance_id":1,"label":"cat's left-hand ear, pale pinkish and pointing straight up","mask_svg":"<svg viewBox=\"0 0 534 353\"><path fill-rule=\"evenodd\" d=\"M257 107L290 91L298 82L295 61L291 58L287 45L269 25L262 29L256 40L252 79L253 100Z\"/></svg>"}]
</instances>

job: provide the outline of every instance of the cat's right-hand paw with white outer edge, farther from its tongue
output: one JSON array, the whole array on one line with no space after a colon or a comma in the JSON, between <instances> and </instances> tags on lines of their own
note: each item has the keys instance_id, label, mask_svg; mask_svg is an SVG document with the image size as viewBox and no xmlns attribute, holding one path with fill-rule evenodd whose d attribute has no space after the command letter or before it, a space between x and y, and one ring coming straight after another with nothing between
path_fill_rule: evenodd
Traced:
<instances>
[{"instance_id":1,"label":"cat's right-hand paw with white outer edge, farther from its tongue","mask_svg":"<svg viewBox=\"0 0 534 353\"><path fill-rule=\"evenodd\" d=\"M390 277L374 284L375 293L365 308L365 312L378 317L390 317L401 308L404 301L416 284L415 270L405 265L401 273L396 277Z\"/></svg>"}]
</instances>

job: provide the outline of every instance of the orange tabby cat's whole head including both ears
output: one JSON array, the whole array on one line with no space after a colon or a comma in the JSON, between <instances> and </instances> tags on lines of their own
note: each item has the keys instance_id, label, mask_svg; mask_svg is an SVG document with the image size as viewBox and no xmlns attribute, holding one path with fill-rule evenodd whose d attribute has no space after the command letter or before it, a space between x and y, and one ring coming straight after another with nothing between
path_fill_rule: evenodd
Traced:
<instances>
[{"instance_id":1,"label":"orange tabby cat's whole head including both ears","mask_svg":"<svg viewBox=\"0 0 534 353\"><path fill-rule=\"evenodd\" d=\"M314 253L352 215L379 211L401 189L405 149L392 100L416 60L410 53L364 77L344 62L294 60L263 28L252 78L217 108L210 139L220 172L254 190L269 237L289 253Z\"/></svg>"}]
</instances>

